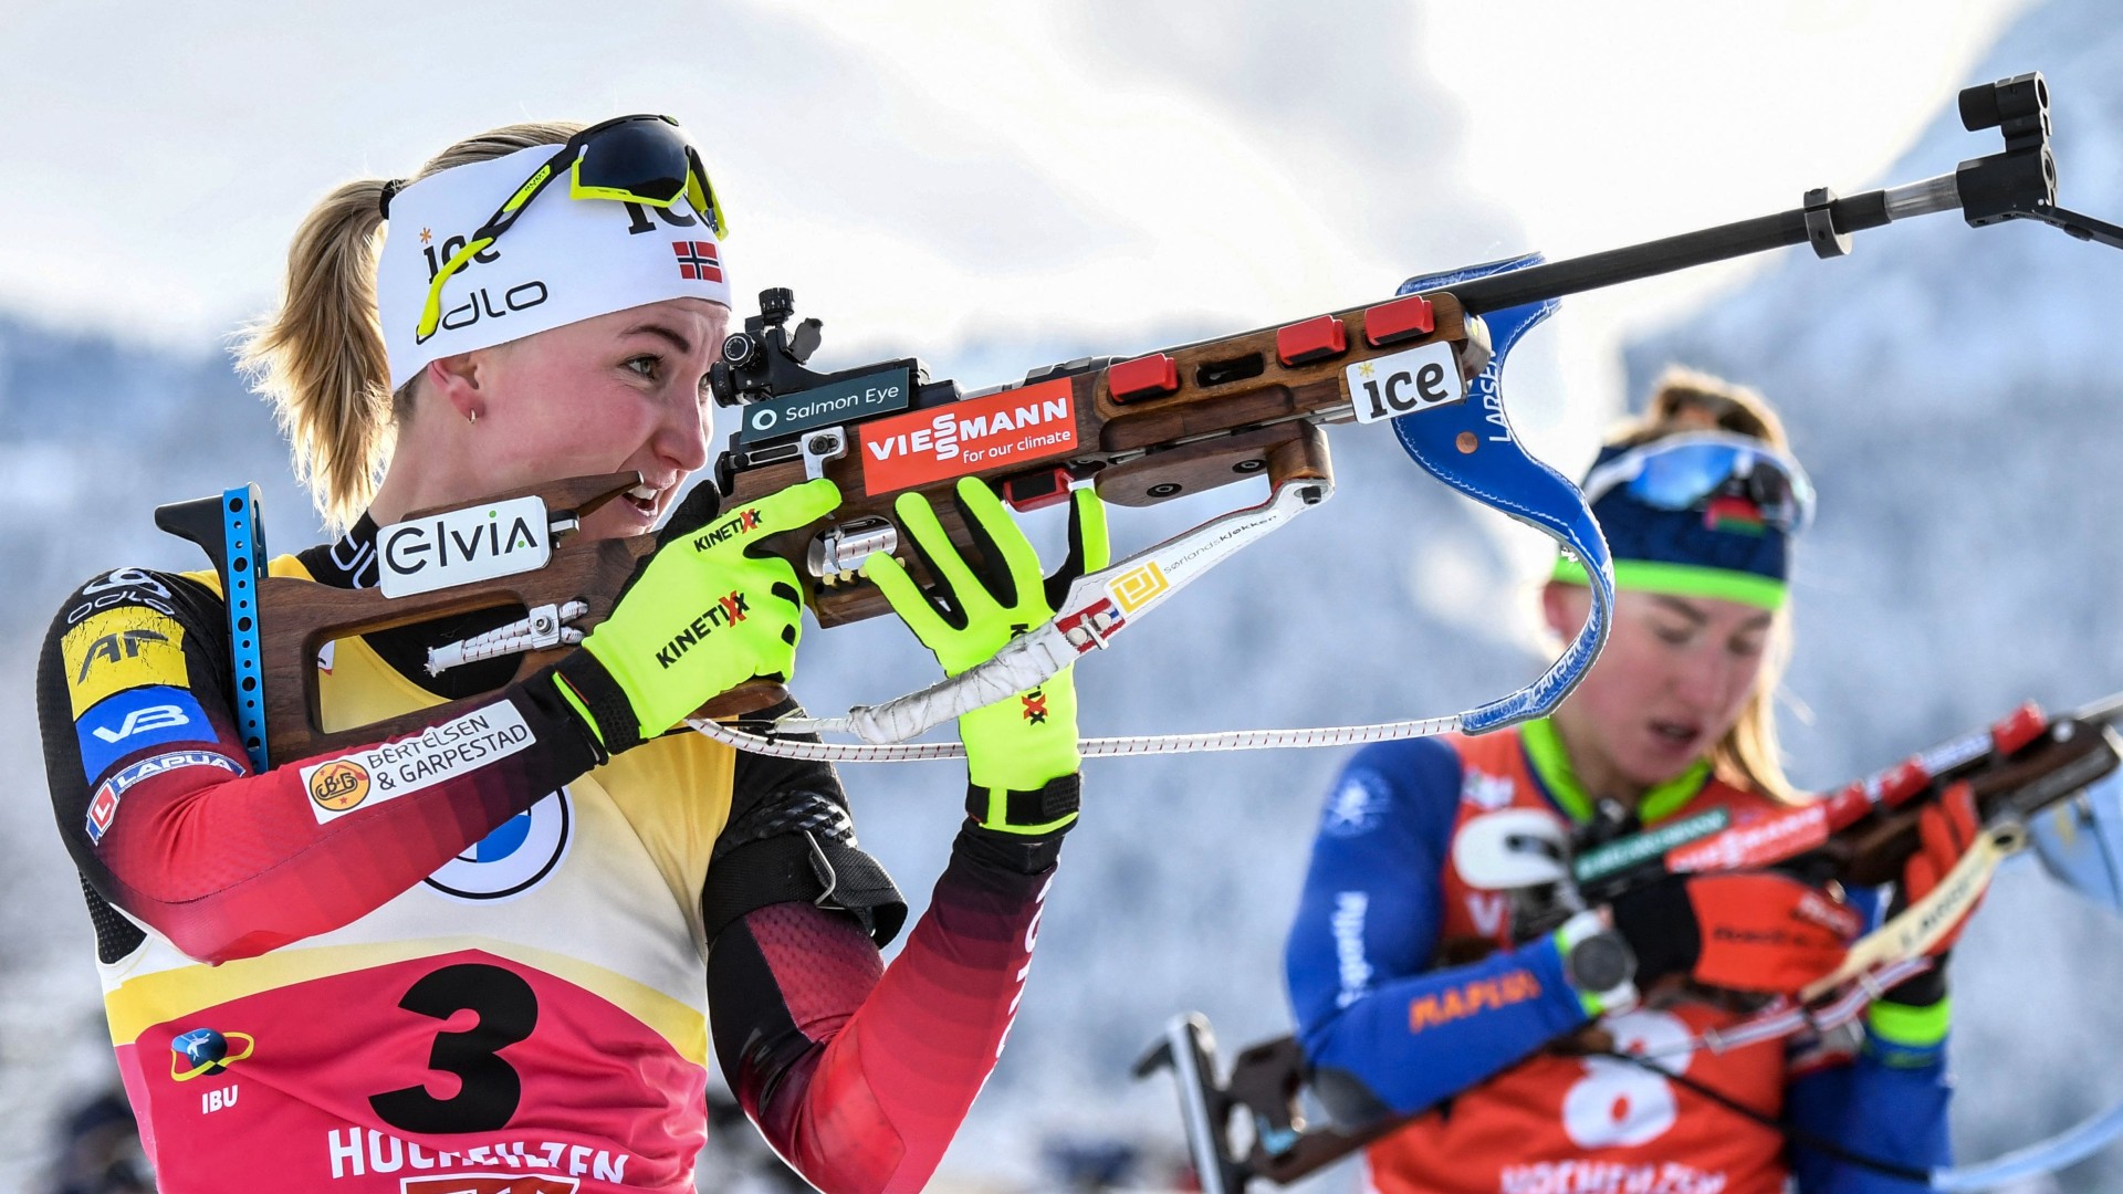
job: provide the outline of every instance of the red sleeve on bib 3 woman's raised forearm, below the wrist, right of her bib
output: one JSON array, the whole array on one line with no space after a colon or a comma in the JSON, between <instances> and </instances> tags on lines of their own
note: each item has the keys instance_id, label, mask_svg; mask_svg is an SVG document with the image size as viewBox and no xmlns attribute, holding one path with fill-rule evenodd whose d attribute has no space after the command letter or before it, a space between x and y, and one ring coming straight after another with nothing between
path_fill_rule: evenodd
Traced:
<instances>
[{"instance_id":1,"label":"red sleeve on bib 3 woman's raised forearm, below the wrist, right of her bib","mask_svg":"<svg viewBox=\"0 0 2123 1194\"><path fill-rule=\"evenodd\" d=\"M828 1194L921 1190L1017 1013L1053 871L970 858L966 839L883 967L847 916L781 903L709 956L715 1052L745 1113Z\"/></svg>"}]
</instances>

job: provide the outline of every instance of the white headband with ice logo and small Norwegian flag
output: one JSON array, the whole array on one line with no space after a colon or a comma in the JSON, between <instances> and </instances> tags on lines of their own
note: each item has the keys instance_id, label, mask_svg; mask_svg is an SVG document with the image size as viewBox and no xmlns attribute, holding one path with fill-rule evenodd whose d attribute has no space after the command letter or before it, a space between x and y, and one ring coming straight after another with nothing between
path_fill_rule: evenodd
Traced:
<instances>
[{"instance_id":1,"label":"white headband with ice logo and small Norwegian flag","mask_svg":"<svg viewBox=\"0 0 2123 1194\"><path fill-rule=\"evenodd\" d=\"M669 208L573 200L554 178L484 253L442 287L442 325L418 338L429 283L554 144L456 166L391 198L376 308L391 389L429 361L669 297L730 306L715 229L679 198Z\"/></svg>"}]
</instances>

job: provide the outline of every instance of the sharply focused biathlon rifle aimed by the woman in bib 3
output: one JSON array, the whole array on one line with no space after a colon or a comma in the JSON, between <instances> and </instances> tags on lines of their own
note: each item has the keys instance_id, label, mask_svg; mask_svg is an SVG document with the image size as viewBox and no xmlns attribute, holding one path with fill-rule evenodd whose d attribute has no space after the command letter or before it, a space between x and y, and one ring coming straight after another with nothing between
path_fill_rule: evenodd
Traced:
<instances>
[{"instance_id":1,"label":"sharply focused biathlon rifle aimed by the woman in bib 3","mask_svg":"<svg viewBox=\"0 0 2123 1194\"><path fill-rule=\"evenodd\" d=\"M1552 712L1605 639L1611 576L1605 540L1584 497L1526 455L1512 433L1499 389L1509 346L1563 295L1796 244L1811 244L1819 257L1841 257L1853 234L1928 212L1960 210L1970 225L2034 219L2123 249L2123 227L2055 206L2049 91L2040 74L1970 87L1960 102L1970 132L1998 127L2004 134L2002 153L1862 195L1807 191L1805 202L1785 212L1609 253L1554 263L1520 257L1412 278L1384 302L1132 359L1066 361L974 393L962 393L951 380L930 380L911 357L811 370L819 321L792 323L790 291L764 291L760 314L728 336L711 370L715 399L743 412L715 461L713 480L724 504L735 508L817 476L841 487L839 510L764 544L805 580L805 599L822 627L887 610L879 589L860 576L870 552L896 555L917 580L932 580L919 559L907 561L911 552L894 516L894 499L909 491L936 499L951 540L981 559L981 544L953 506L940 501L962 476L989 482L1017 508L1064 501L1076 484L1095 487L1117 506L1151 506L1253 476L1270 484L1265 504L1078 580L1049 625L955 680L851 710L849 718L783 720L775 729L851 731L868 744L896 744L1036 686L1078 654L1106 646L1240 546L1325 501L1333 493L1333 470L1323 429L1340 423L1391 423L1429 474L1541 529L1584 561L1594 595L1586 627L1535 682L1463 714L1342 731L1199 735L1187 748L1478 733ZM518 676L529 676L580 642L582 631L609 612L654 540L580 544L571 531L584 514L637 482L635 474L571 478L456 510L418 512L382 529L382 584L363 591L267 578L251 487L163 508L157 525L200 542L231 595L240 714L263 767L267 754L299 758L376 741L471 705L327 731L318 720L312 663L327 642L486 608L520 608L522 618L439 650L431 667L522 652ZM238 603L253 599L255 608L238 612ZM701 718L758 710L781 697L775 684L747 684L718 697ZM764 752L798 752L794 744L771 744L709 720L694 720L694 727ZM1138 752L1144 741L1091 739L1085 752ZM811 744L809 752L909 758L949 748Z\"/></svg>"}]
</instances>

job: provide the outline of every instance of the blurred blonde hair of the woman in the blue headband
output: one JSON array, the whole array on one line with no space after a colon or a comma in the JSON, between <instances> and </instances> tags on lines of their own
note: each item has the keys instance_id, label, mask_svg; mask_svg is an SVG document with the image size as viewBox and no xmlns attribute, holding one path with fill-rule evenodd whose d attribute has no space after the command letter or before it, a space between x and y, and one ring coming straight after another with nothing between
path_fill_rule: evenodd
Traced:
<instances>
[{"instance_id":1,"label":"blurred blonde hair of the woman in the blue headband","mask_svg":"<svg viewBox=\"0 0 2123 1194\"><path fill-rule=\"evenodd\" d=\"M1607 444L1635 448L1684 431L1732 431L1762 440L1779 453L1792 450L1783 421L1777 419L1760 391L1681 365L1667 365L1667 372L1652 387L1652 402L1643 416L1618 427ZM1747 695L1732 729L1711 746L1711 767L1720 775L1785 803L1798 799L1792 780L1783 773L1783 754L1777 748L1777 684L1783 682L1783 667L1790 659L1792 608L1785 601L1768 625L1754 693Z\"/></svg>"}]
</instances>

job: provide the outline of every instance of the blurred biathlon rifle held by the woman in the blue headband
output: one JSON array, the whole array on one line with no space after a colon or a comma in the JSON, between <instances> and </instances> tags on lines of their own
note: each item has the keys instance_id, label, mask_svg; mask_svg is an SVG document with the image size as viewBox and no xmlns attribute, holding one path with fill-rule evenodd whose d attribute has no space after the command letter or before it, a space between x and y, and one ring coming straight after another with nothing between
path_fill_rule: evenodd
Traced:
<instances>
[{"instance_id":1,"label":"blurred biathlon rifle held by the woman in the blue headband","mask_svg":"<svg viewBox=\"0 0 2123 1194\"><path fill-rule=\"evenodd\" d=\"M2123 914L2123 775L2117 773L2123 739L2112 729L2119 716L2123 695L2061 718L2044 718L2027 703L1979 733L1745 824L1728 824L1724 809L1715 809L1601 839L1594 818L1588 826L1592 843L1586 846L1543 833L1541 824L1556 824L1548 814L1503 809L1469 822L1461 839L1469 833L1484 837L1480 826L1492 820L1497 833L1486 835L1490 846L1518 854L1514 865L1497 869L1518 882L1495 890L1512 899L1514 937L1531 941L1575 911L1677 873L1775 867L1813 882L1892 882L1917 852L1923 803L1966 782L1983 822L1979 850L1940 882L1936 897L1917 901L1853 945L1853 960L1815 984L1805 1001L1758 1016L1775 1026L1764 1035L1826 1028L1853 1018L1868 1001L1864 990L1856 990L1834 1001L1836 1011L1830 1011L1836 988L1870 982L1879 990L1928 969L1923 950L1974 905L1996 863L2030 843L2072 890ZM1514 816L1518 812L1531 816ZM1480 854L1482 843L1465 854L1454 843L1454 863L1463 873L1480 869ZM1529 865L1539 871L1550 860L1556 865L1552 873L1522 882ZM1478 875L1467 880L1484 886ZM1488 939L1448 939L1437 956L1439 965L1471 962L1492 948ZM1734 1043L1745 1039L1726 1039L1726 1047ZM1301 1101L1308 1064L1299 1043L1280 1037L1250 1045L1238 1054L1231 1073L1221 1075L1214 1035L1199 1013L1172 1018L1166 1035L1136 1062L1136 1077L1166 1067L1180 1088L1189 1158L1204 1194L1242 1194L1255 1179L1289 1186L1418 1118L1354 1128L1308 1124ZM1244 1135L1233 1135L1238 1126Z\"/></svg>"}]
</instances>

